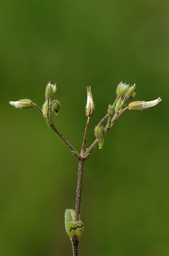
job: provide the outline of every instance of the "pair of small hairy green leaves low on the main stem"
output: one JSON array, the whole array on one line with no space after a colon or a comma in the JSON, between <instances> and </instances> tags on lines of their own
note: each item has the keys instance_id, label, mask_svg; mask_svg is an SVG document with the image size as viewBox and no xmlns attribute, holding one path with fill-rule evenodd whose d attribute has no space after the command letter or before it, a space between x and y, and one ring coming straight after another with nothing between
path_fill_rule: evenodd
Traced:
<instances>
[{"instance_id":1,"label":"pair of small hairy green leaves low on the main stem","mask_svg":"<svg viewBox=\"0 0 169 256\"><path fill-rule=\"evenodd\" d=\"M79 239L80 236L82 236L82 232L84 231L84 223L82 223L81 220L75 221L75 210L66 209L64 221L66 233L70 239L73 237L77 237Z\"/></svg>"}]
</instances>

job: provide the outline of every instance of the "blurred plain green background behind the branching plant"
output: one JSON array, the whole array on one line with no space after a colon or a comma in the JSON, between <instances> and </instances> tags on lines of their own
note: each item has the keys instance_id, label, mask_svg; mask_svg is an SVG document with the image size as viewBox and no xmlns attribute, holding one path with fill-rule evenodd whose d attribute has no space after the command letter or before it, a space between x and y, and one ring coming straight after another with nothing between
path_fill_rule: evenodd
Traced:
<instances>
[{"instance_id":1,"label":"blurred plain green background behind the branching plant","mask_svg":"<svg viewBox=\"0 0 169 256\"><path fill-rule=\"evenodd\" d=\"M169 4L167 1L1 1L0 255L72 255L64 210L75 207L77 159L36 109L57 83L55 124L80 148L85 87L92 86L94 126L120 81L136 83L136 100L163 99L128 112L103 150L85 164L81 256L169 255Z\"/></svg>"}]
</instances>

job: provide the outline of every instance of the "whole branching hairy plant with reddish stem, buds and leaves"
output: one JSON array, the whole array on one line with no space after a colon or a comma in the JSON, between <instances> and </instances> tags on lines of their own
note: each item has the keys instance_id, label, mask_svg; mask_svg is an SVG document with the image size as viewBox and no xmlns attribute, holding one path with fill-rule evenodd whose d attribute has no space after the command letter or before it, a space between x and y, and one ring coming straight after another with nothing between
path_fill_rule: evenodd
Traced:
<instances>
[{"instance_id":1,"label":"whole branching hairy plant with reddish stem, buds and leaves","mask_svg":"<svg viewBox=\"0 0 169 256\"><path fill-rule=\"evenodd\" d=\"M82 196L82 180L83 180L83 170L85 160L91 155L92 150L99 145L99 148L103 147L105 136L107 132L113 127L115 122L121 117L121 115L127 110L140 111L145 108L151 108L156 106L161 102L161 98L158 97L156 100L151 100L148 102L145 101L135 101L128 104L124 107L127 100L133 99L135 97L135 84L129 86L126 83L119 83L116 89L116 99L112 105L108 105L108 111L103 118L96 125L94 132L96 140L94 140L89 148L85 150L85 143L87 140L87 131L89 129L89 122L92 114L94 113L94 102L92 100L91 86L87 87L87 104L85 108L85 114L87 116L87 121L85 124L84 138L82 140L82 147L80 153L70 144L70 142L62 135L62 133L55 127L50 116L50 109L52 109L55 115L58 114L60 109L60 102L58 100L53 100L52 96L55 94L57 87L55 84L50 82L47 84L45 89L45 103L43 104L42 109L30 99L21 99L17 101L10 101L11 106L20 109L31 108L33 106L36 108L40 114L45 118L48 126L61 138L61 140L66 144L70 149L71 153L78 159L78 175L77 175L77 193L76 193L76 202L75 210L66 209L65 212L65 228L68 236L71 239L71 244L73 247L73 256L78 256L78 241L82 232L84 230L84 223L80 220L80 203ZM107 122L105 127L103 124Z\"/></svg>"}]
</instances>

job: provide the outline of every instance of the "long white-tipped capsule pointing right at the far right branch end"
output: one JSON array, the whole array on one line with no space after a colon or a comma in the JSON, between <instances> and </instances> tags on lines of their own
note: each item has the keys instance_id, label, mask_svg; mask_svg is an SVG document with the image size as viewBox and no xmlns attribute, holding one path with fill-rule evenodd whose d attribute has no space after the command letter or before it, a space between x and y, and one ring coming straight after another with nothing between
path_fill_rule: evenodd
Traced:
<instances>
[{"instance_id":1,"label":"long white-tipped capsule pointing right at the far right branch end","mask_svg":"<svg viewBox=\"0 0 169 256\"><path fill-rule=\"evenodd\" d=\"M158 97L156 100L151 100L151 101L133 101L128 104L128 109L133 110L133 111L140 111L145 108L151 108L159 104L161 102L161 98Z\"/></svg>"}]
</instances>

